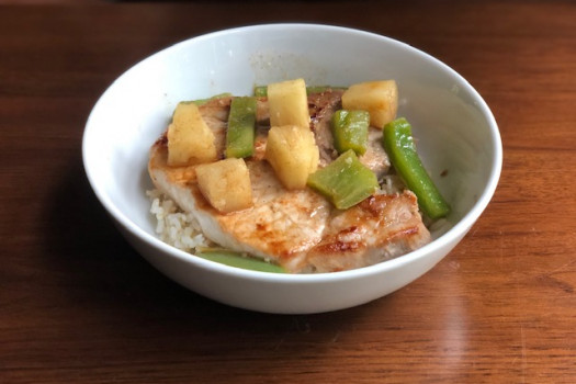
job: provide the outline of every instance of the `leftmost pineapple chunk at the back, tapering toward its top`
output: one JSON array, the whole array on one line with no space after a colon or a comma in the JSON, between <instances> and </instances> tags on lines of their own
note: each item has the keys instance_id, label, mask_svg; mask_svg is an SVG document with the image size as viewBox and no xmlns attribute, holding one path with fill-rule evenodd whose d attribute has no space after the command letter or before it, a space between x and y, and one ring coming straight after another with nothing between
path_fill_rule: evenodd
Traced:
<instances>
[{"instance_id":1,"label":"leftmost pineapple chunk at the back, tapering toward its top","mask_svg":"<svg viewBox=\"0 0 576 384\"><path fill-rule=\"evenodd\" d=\"M168 126L168 166L190 166L216 160L214 134L197 105L179 103Z\"/></svg>"}]
</instances>

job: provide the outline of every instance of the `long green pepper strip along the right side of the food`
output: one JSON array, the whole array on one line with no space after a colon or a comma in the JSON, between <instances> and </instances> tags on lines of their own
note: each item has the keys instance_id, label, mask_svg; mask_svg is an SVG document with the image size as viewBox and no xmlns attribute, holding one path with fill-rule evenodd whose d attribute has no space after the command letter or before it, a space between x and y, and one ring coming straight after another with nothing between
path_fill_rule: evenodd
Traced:
<instances>
[{"instance_id":1,"label":"long green pepper strip along the right side of the food","mask_svg":"<svg viewBox=\"0 0 576 384\"><path fill-rule=\"evenodd\" d=\"M416 194L422 212L432 219L447 216L450 213L450 206L440 194L416 151L408 121L399 117L386 124L382 139L392 166L406 187Z\"/></svg>"}]
</instances>

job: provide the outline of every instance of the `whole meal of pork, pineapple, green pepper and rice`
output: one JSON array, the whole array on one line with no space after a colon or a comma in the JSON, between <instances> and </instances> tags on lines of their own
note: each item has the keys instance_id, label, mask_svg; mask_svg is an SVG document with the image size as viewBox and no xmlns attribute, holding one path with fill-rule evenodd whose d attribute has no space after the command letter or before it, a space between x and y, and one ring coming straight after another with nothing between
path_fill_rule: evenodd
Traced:
<instances>
[{"instance_id":1,"label":"whole meal of pork, pineapple, green pepper and rice","mask_svg":"<svg viewBox=\"0 0 576 384\"><path fill-rule=\"evenodd\" d=\"M201 257L290 273L422 247L426 224L449 206L397 100L394 80L342 89L295 79L180 102L150 149L157 231Z\"/></svg>"}]
</instances>

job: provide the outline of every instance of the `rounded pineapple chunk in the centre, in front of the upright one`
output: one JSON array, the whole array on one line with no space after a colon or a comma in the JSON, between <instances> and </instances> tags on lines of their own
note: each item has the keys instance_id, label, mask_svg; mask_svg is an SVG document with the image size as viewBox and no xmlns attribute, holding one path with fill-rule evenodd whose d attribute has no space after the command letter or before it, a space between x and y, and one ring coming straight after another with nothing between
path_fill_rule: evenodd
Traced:
<instances>
[{"instance_id":1,"label":"rounded pineapple chunk in the centre, in front of the upright one","mask_svg":"<svg viewBox=\"0 0 576 384\"><path fill-rule=\"evenodd\" d=\"M308 176L318 168L314 133L300 125L273 126L268 133L266 159L285 188L304 189Z\"/></svg>"}]
</instances>

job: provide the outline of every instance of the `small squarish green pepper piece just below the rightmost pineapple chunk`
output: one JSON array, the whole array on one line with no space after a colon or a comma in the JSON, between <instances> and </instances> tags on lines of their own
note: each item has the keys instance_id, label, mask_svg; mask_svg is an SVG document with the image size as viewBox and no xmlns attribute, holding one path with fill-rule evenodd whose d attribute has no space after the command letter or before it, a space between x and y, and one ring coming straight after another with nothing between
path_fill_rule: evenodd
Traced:
<instances>
[{"instance_id":1,"label":"small squarish green pepper piece just below the rightmost pineapple chunk","mask_svg":"<svg viewBox=\"0 0 576 384\"><path fill-rule=\"evenodd\" d=\"M352 149L357 155L364 155L368 147L368 111L338 110L330 120L334 145L338 154Z\"/></svg>"}]
</instances>

